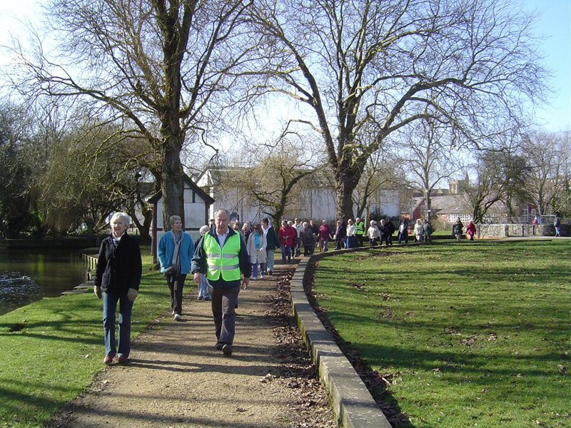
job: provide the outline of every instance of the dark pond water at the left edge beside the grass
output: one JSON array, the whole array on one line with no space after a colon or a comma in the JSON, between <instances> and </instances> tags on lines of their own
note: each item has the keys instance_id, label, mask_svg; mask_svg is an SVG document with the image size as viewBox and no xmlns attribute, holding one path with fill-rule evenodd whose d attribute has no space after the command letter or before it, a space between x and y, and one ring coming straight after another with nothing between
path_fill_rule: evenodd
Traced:
<instances>
[{"instance_id":1,"label":"dark pond water at the left edge beside the grass","mask_svg":"<svg viewBox=\"0 0 571 428\"><path fill-rule=\"evenodd\" d=\"M0 315L85 282L79 250L0 248Z\"/></svg>"}]
</instances>

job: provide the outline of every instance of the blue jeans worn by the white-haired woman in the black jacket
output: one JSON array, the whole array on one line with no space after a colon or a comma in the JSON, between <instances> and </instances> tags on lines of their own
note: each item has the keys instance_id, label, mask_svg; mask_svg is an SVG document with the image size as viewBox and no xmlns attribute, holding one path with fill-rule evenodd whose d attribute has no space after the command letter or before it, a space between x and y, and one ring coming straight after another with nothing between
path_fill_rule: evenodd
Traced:
<instances>
[{"instance_id":1,"label":"blue jeans worn by the white-haired woman in the black jacket","mask_svg":"<svg viewBox=\"0 0 571 428\"><path fill-rule=\"evenodd\" d=\"M127 298L127 290L118 295L103 291L103 338L105 355L128 357L131 352L131 310L133 302ZM115 345L115 312L119 302L119 340ZM117 352L118 350L118 352Z\"/></svg>"}]
</instances>

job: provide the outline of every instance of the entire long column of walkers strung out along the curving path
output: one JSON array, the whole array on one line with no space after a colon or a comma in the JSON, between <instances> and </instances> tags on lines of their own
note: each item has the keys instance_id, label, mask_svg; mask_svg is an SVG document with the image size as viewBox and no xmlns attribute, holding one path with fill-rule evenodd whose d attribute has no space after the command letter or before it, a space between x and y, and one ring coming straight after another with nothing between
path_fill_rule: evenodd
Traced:
<instances>
[{"instance_id":1,"label":"entire long column of walkers strung out along the curving path","mask_svg":"<svg viewBox=\"0 0 571 428\"><path fill-rule=\"evenodd\" d=\"M330 240L335 240L335 249L354 248L363 245L363 238L370 245L393 245L393 233L398 230L398 243L408 243L408 221L400 220L398 229L389 219L370 221L365 230L360 218L343 223L337 220L334 232L323 220L317 227L310 223L295 223L283 220L276 233L268 218L261 224L246 223L243 230L230 228L228 210L218 210L211 225L200 229L201 238L196 244L188 233L182 231L182 220L178 215L169 219L171 230L164 233L158 243L158 261L166 277L171 294L171 310L174 320L182 320L183 287L187 275L192 274L198 286L198 300L211 301L216 332L216 350L231 355L235 335L236 307L241 287L248 288L250 279L272 275L276 248L280 247L283 263L289 263L294 255L311 255L318 248L328 250ZM129 362L131 351L131 310L141 283L141 250L135 239L127 232L130 218L126 213L115 213L110 221L112 233L101 243L95 275L94 292L103 300L103 337L105 342L105 364L111 364L115 357L120 364ZM428 221L417 220L414 227L415 240L429 241L432 226ZM468 224L466 232L474 240L475 225ZM463 224L453 225L453 235L460 240ZM259 269L258 269L259 266ZM119 305L118 341L115 337L116 307Z\"/></svg>"}]
</instances>

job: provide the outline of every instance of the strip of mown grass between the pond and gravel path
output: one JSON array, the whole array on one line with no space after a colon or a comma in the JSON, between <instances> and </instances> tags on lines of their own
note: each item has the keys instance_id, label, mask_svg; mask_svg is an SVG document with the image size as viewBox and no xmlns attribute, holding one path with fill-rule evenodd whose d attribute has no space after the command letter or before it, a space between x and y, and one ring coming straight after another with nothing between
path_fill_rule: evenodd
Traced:
<instances>
[{"instance_id":1,"label":"strip of mown grass between the pond and gravel path","mask_svg":"<svg viewBox=\"0 0 571 428\"><path fill-rule=\"evenodd\" d=\"M131 337L168 309L163 277L143 253ZM101 300L89 292L34 302L0 316L0 427L41 427L103 368Z\"/></svg>"}]
</instances>

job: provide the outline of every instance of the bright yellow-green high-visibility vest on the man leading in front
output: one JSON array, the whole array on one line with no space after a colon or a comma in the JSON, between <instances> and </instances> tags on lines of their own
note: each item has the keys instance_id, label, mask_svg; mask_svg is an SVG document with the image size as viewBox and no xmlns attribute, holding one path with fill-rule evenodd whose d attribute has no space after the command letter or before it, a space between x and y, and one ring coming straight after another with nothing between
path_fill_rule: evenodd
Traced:
<instances>
[{"instance_id":1,"label":"bright yellow-green high-visibility vest on the man leading in front","mask_svg":"<svg viewBox=\"0 0 571 428\"><path fill-rule=\"evenodd\" d=\"M206 251L206 263L208 264L208 272L206 279L225 281L240 280L240 264L238 253L240 253L240 235L235 233L228 236L224 245L220 248L218 240L210 233L204 235L203 248Z\"/></svg>"}]
</instances>

